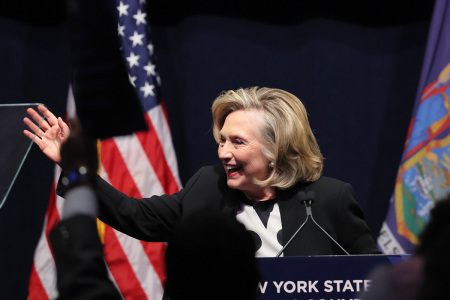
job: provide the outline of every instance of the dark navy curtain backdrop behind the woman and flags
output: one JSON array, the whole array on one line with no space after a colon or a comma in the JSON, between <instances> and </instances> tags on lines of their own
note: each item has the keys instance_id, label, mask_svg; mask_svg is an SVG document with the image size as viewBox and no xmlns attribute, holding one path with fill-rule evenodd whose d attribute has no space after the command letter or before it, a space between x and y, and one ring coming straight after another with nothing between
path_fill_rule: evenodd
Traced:
<instances>
[{"instance_id":1,"label":"dark navy curtain backdrop behind the woman and flags","mask_svg":"<svg viewBox=\"0 0 450 300\"><path fill-rule=\"evenodd\" d=\"M63 116L70 77L64 6L25 2L0 7L0 101L42 102ZM210 106L221 91L285 89L308 110L326 158L324 174L354 186L377 236L407 135L433 7L432 1L403 2L149 1L183 183L201 166L219 163ZM120 113L116 121L127 126ZM33 147L0 210L2 298L26 298L52 177L52 163Z\"/></svg>"}]
</instances>

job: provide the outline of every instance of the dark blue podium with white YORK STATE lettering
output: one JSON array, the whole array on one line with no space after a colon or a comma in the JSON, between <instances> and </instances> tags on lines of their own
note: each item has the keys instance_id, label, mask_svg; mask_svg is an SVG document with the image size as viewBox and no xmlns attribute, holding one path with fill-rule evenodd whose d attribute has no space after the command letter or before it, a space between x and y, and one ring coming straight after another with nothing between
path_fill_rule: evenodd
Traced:
<instances>
[{"instance_id":1,"label":"dark blue podium with white YORK STATE lettering","mask_svg":"<svg viewBox=\"0 0 450 300\"><path fill-rule=\"evenodd\" d=\"M347 255L258 258L258 300L358 299L370 288L369 273L411 255Z\"/></svg>"}]
</instances>

